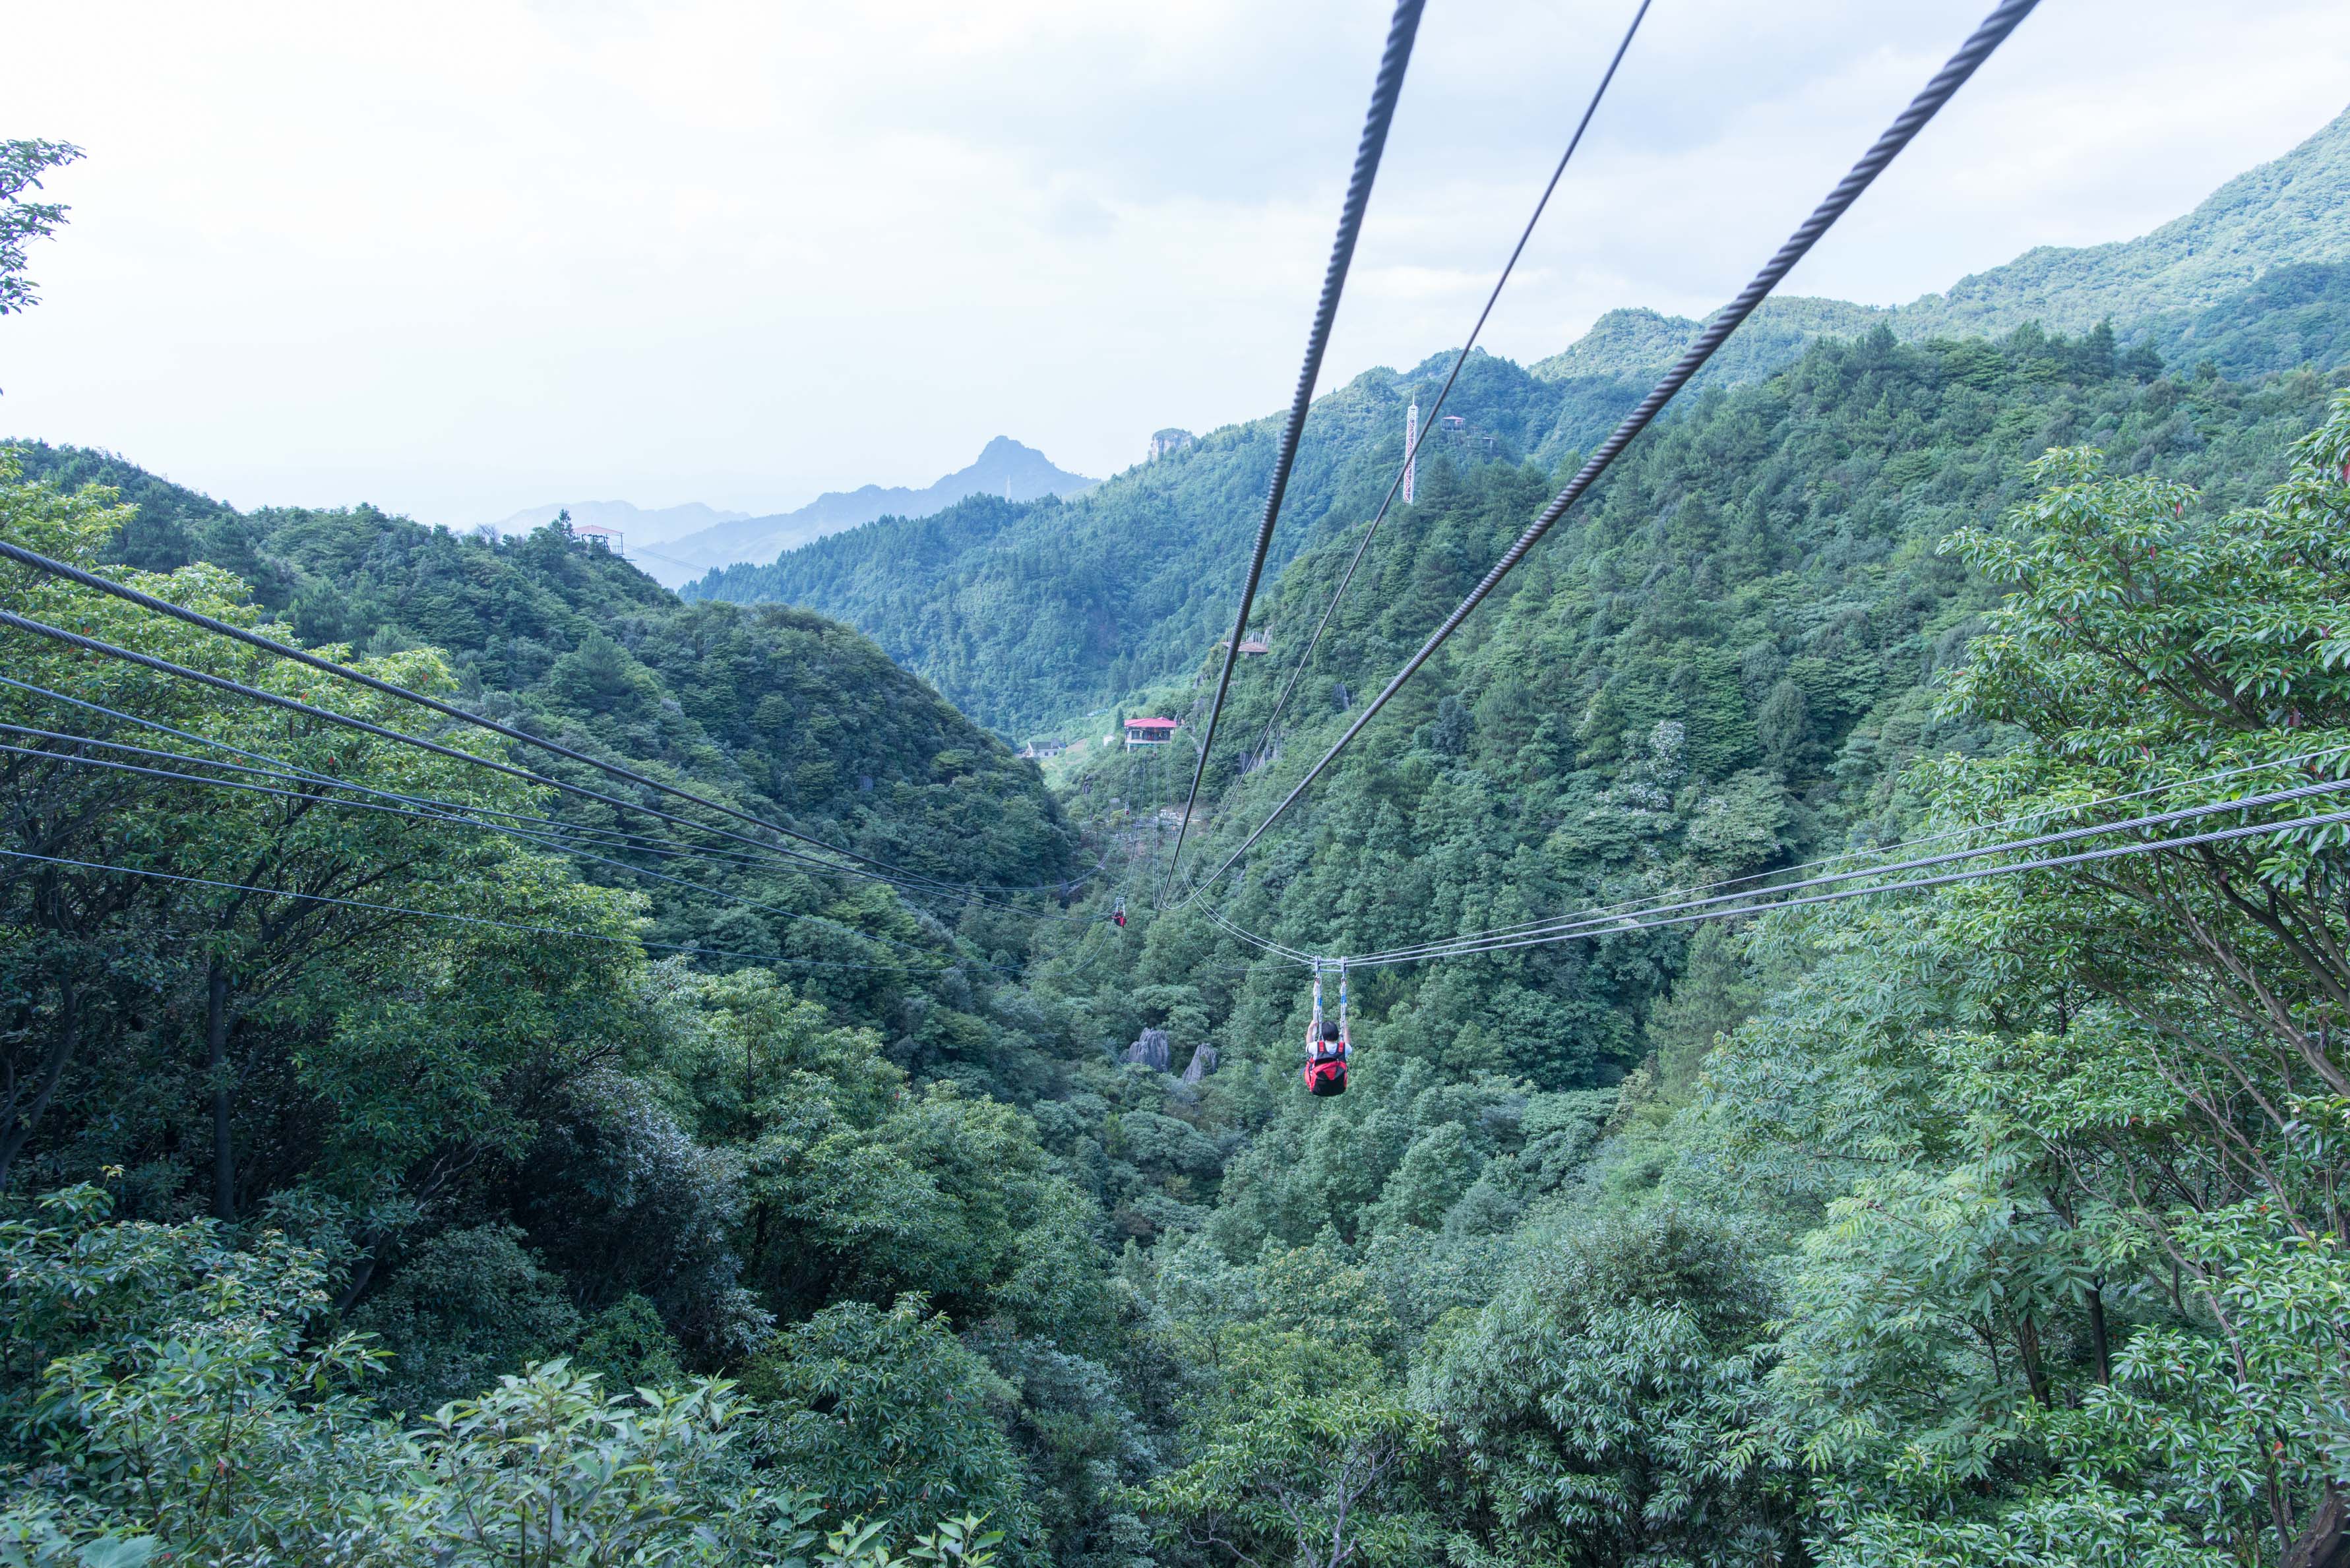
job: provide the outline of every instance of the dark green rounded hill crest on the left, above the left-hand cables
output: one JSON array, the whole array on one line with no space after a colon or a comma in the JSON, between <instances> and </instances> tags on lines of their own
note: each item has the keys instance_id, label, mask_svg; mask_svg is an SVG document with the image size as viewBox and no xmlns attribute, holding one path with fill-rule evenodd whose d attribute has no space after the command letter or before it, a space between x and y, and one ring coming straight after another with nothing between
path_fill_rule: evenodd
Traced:
<instances>
[{"instance_id":1,"label":"dark green rounded hill crest on the left, above the left-hand cables","mask_svg":"<svg viewBox=\"0 0 2350 1568\"><path fill-rule=\"evenodd\" d=\"M132 517L110 559L226 567L310 644L444 649L494 717L522 710L550 733L740 790L919 875L1041 884L1072 867L1034 769L820 616L679 609L559 529L486 541L367 505L244 515L103 454L14 451L28 477L122 491Z\"/></svg>"}]
</instances>

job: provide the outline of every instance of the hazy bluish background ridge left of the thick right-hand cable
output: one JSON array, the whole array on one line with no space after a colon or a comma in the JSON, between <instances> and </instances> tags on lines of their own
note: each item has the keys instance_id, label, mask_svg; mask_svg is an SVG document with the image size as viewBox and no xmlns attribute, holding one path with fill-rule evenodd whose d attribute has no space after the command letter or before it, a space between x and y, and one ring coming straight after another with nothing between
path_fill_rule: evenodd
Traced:
<instances>
[{"instance_id":1,"label":"hazy bluish background ridge left of the thick right-hand cable","mask_svg":"<svg viewBox=\"0 0 2350 1568\"><path fill-rule=\"evenodd\" d=\"M1370 371L1314 404L1276 569L1377 508L1403 454L1403 409L1415 395L1429 407L1448 364ZM1466 430L1429 454L1556 461L1598 440L1640 390L1614 378L1537 381L1480 353L1445 404ZM1276 440L1276 418L1231 425L1076 501L973 496L935 517L884 517L771 567L726 567L686 595L839 616L973 717L1036 729L1189 670L1231 630Z\"/></svg>"}]
</instances>

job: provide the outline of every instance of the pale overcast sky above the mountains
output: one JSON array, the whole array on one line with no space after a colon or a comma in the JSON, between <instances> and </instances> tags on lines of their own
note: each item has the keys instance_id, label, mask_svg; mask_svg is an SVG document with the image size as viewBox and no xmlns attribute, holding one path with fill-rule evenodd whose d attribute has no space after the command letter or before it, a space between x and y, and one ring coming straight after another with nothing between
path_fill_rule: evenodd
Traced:
<instances>
[{"instance_id":1,"label":"pale overcast sky above the mountains","mask_svg":"<svg viewBox=\"0 0 2350 1568\"><path fill-rule=\"evenodd\" d=\"M89 158L0 435L237 505L778 510L1281 407L1384 0L0 0ZM1488 329L1732 294L1986 0L1657 0ZM1455 346L1629 0L1434 0L1323 386ZM1793 275L2120 240L2350 103L2341 0L2047 0Z\"/></svg>"}]
</instances>

